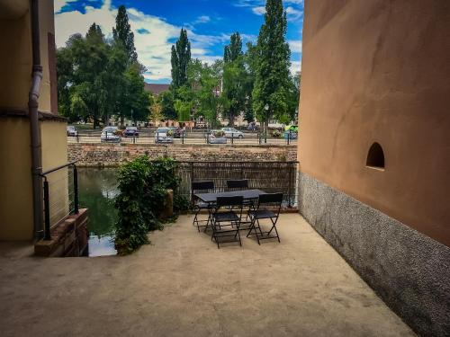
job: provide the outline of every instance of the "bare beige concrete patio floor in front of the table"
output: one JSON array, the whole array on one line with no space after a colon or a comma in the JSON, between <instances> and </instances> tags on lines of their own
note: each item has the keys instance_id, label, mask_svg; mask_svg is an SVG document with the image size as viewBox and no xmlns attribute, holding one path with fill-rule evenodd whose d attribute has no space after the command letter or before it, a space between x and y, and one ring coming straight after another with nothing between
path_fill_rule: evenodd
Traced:
<instances>
[{"instance_id":1,"label":"bare beige concrete patio floor in front of the table","mask_svg":"<svg viewBox=\"0 0 450 337\"><path fill-rule=\"evenodd\" d=\"M218 250L184 216L126 257L40 259L3 245L0 334L414 335L301 216L278 228L281 244Z\"/></svg>"}]
</instances>

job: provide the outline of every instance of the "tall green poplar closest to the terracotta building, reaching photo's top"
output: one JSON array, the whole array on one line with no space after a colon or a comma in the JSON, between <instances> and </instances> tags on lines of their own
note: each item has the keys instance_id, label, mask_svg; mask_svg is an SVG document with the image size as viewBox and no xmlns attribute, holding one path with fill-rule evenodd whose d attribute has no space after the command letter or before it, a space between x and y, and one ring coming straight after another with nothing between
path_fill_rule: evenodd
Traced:
<instances>
[{"instance_id":1,"label":"tall green poplar closest to the terracotta building, reaching photo's top","mask_svg":"<svg viewBox=\"0 0 450 337\"><path fill-rule=\"evenodd\" d=\"M285 41L286 12L282 0L267 0L265 22L257 38L257 71L252 99L257 119L266 129L272 116L286 119L291 85L291 51Z\"/></svg>"}]
</instances>

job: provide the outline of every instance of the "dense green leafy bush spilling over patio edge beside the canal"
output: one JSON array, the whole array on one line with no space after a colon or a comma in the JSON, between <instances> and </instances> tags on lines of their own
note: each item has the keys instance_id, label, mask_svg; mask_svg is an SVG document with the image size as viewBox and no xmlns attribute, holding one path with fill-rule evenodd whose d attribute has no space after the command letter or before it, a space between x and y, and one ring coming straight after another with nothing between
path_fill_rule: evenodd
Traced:
<instances>
[{"instance_id":1,"label":"dense green leafy bush spilling over patio edge beside the canal","mask_svg":"<svg viewBox=\"0 0 450 337\"><path fill-rule=\"evenodd\" d=\"M175 169L176 162L171 158L150 161L146 155L121 167L120 193L115 199L118 221L114 240L119 254L132 253L142 244L148 244L148 231L163 228L159 217L165 208L166 190L175 193L180 184ZM184 207L182 197L175 194L174 210L181 211Z\"/></svg>"}]
</instances>

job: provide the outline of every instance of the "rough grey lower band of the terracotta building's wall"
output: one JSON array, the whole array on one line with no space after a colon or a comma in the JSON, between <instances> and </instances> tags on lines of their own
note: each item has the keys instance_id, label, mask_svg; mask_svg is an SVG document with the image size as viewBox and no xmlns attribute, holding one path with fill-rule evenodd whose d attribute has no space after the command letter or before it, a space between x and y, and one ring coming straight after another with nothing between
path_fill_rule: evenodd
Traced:
<instances>
[{"instance_id":1,"label":"rough grey lower band of the terracotta building's wall","mask_svg":"<svg viewBox=\"0 0 450 337\"><path fill-rule=\"evenodd\" d=\"M311 226L423 336L450 333L450 248L301 173L298 208Z\"/></svg>"}]
</instances>

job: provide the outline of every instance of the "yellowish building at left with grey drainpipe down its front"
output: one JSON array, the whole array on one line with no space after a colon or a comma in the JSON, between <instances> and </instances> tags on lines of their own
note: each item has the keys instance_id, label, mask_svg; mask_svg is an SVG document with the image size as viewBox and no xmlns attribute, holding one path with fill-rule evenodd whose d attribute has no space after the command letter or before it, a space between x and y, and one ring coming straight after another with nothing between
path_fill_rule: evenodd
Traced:
<instances>
[{"instance_id":1,"label":"yellowish building at left with grey drainpipe down its front","mask_svg":"<svg viewBox=\"0 0 450 337\"><path fill-rule=\"evenodd\" d=\"M67 163L54 32L53 1L0 2L0 240L42 235L39 174ZM58 174L67 183L67 172L55 179ZM67 212L67 189L50 187L50 195L62 203L58 211Z\"/></svg>"}]
</instances>

